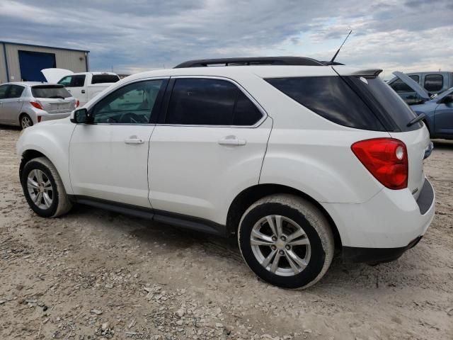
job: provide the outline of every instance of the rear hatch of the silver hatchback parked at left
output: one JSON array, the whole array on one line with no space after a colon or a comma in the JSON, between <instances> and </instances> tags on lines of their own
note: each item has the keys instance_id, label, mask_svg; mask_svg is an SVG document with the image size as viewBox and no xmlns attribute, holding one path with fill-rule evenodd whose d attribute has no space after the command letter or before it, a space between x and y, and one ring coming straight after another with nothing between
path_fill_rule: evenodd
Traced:
<instances>
[{"instance_id":1,"label":"rear hatch of the silver hatchback parked at left","mask_svg":"<svg viewBox=\"0 0 453 340\"><path fill-rule=\"evenodd\" d=\"M36 85L31 88L31 93L47 113L67 113L76 107L76 99L63 85Z\"/></svg>"}]
</instances>

